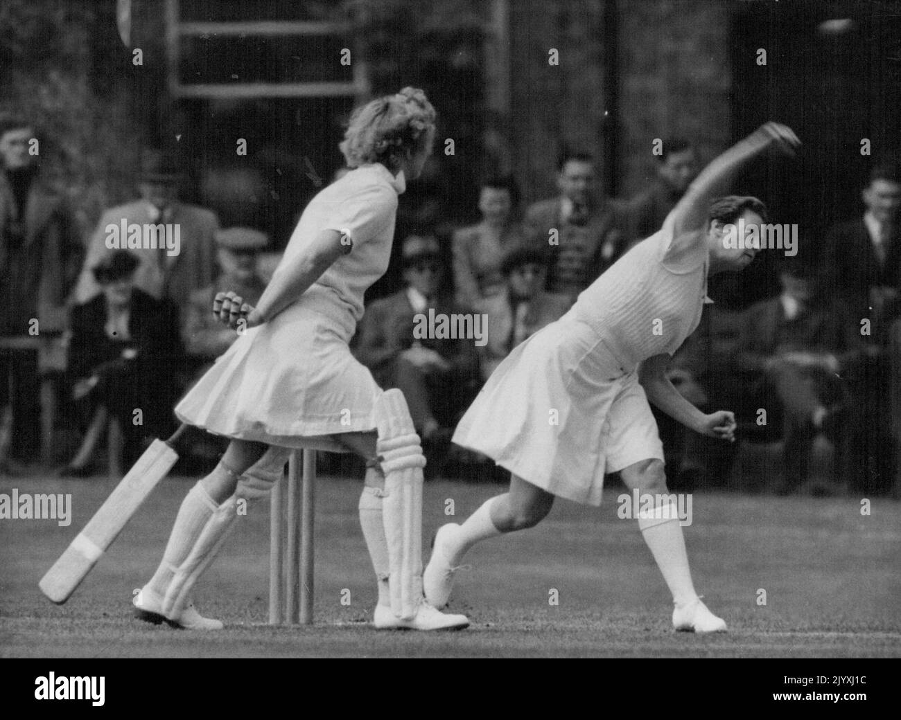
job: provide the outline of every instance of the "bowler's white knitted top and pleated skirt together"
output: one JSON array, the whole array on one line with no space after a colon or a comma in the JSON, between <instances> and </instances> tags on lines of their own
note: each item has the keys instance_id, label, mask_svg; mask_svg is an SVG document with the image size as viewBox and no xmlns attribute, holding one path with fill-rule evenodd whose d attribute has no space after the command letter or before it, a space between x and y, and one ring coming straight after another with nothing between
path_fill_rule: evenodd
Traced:
<instances>
[{"instance_id":1,"label":"bowler's white knitted top and pleated skirt together","mask_svg":"<svg viewBox=\"0 0 901 720\"><path fill-rule=\"evenodd\" d=\"M598 505L606 473L663 460L638 365L696 329L707 247L672 247L674 217L498 365L453 441L561 498ZM490 332L490 326L488 332Z\"/></svg>"}]
</instances>

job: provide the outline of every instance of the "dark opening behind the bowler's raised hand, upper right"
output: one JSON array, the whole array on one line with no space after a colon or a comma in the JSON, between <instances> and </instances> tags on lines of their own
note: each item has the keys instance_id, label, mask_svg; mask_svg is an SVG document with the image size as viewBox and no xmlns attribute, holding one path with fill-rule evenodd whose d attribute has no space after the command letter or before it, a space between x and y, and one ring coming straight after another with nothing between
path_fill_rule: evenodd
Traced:
<instances>
[{"instance_id":1,"label":"dark opening behind the bowler's raised hand, upper right","mask_svg":"<svg viewBox=\"0 0 901 720\"><path fill-rule=\"evenodd\" d=\"M862 212L870 167L899 148L901 14L889 2L733 6L733 139L774 120L804 142L795 159L749 167L736 189L767 202L772 222L796 223L798 257L818 266L826 229ZM759 49L766 66L757 63ZM871 156L860 154L861 139ZM782 257L763 253L741 277L716 278L714 300L732 295L746 304L777 292Z\"/></svg>"}]
</instances>

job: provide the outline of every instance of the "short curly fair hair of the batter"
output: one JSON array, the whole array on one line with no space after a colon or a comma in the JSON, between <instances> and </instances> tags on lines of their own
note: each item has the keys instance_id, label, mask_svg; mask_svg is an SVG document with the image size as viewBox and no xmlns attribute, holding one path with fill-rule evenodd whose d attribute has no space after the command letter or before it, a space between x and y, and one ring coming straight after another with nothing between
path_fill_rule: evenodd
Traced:
<instances>
[{"instance_id":1,"label":"short curly fair hair of the batter","mask_svg":"<svg viewBox=\"0 0 901 720\"><path fill-rule=\"evenodd\" d=\"M407 153L425 148L434 127L435 109L425 93L405 87L354 110L338 147L348 167L380 162L394 171Z\"/></svg>"}]
</instances>

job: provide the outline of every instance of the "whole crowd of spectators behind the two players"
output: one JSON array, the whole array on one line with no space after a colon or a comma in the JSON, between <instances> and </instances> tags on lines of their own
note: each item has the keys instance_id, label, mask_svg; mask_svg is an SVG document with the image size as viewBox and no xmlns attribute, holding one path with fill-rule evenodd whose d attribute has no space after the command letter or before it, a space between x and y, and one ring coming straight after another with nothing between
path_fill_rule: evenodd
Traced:
<instances>
[{"instance_id":1,"label":"whole crowd of spectators behind the two players","mask_svg":"<svg viewBox=\"0 0 901 720\"><path fill-rule=\"evenodd\" d=\"M174 429L177 397L234 339L210 312L214 294L259 299L269 238L259 229L221 229L212 211L179 202L177 164L148 150L140 197L105 211L82 241L65 203L42 182L29 152L34 133L29 121L0 119L0 469L41 450L48 456L41 415L49 411L56 436L86 440L98 417L116 423L128 464L151 437ZM396 238L404 286L368 303L352 349L379 385L403 390L430 463L441 467L453 454L457 419L512 348L559 319L629 247L660 229L700 169L686 140L666 140L656 159L651 184L613 199L598 190L595 157L565 152L555 197L522 208L514 178L489 178L479 188L477 224L450 238L428 227ZM777 297L742 312L707 306L670 371L702 409L737 410L742 437L783 442L779 491L808 479L820 435L834 448L833 490L898 484L897 166L874 164L861 198L865 211L855 218L849 209L847 222L813 240L815 252L781 261ZM179 253L107 247L108 225L132 223L177 224ZM486 342L414 337L414 316L430 310L487 317ZM47 378L51 402L41 389ZM658 420L674 485L728 473L734 448ZM216 440L201 435L192 446L215 455ZM73 456L64 473L96 469L96 454Z\"/></svg>"}]
</instances>

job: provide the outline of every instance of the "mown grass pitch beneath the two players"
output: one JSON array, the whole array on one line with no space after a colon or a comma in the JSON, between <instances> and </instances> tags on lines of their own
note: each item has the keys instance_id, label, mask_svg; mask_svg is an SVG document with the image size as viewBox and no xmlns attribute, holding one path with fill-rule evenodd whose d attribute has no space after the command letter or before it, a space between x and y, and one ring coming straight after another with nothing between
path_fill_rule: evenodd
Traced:
<instances>
[{"instance_id":1,"label":"mown grass pitch beneath the two players","mask_svg":"<svg viewBox=\"0 0 901 720\"><path fill-rule=\"evenodd\" d=\"M64 606L38 590L43 572L112 485L105 478L0 480L0 492L72 494L72 523L0 521L0 654L6 657L305 656L901 656L899 504L873 498L788 499L698 492L686 527L696 587L727 635L674 633L670 599L635 520L616 517L620 487L600 509L559 500L539 527L488 541L467 558L451 609L458 633L386 633L366 626L376 587L357 519L359 481L317 485L314 627L269 627L268 503L250 507L196 605L226 629L198 634L132 618L132 593L159 563L193 480L160 483ZM426 543L499 485L426 485ZM445 515L453 500L452 517ZM765 591L766 604L760 604ZM552 604L554 598L558 604ZM343 601L343 602L342 602ZM349 604L347 604L349 603Z\"/></svg>"}]
</instances>

